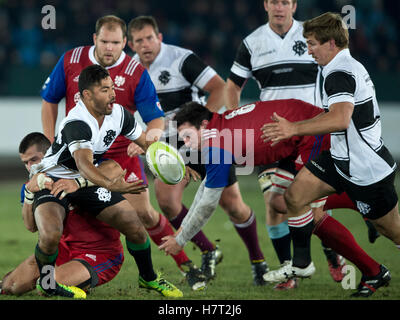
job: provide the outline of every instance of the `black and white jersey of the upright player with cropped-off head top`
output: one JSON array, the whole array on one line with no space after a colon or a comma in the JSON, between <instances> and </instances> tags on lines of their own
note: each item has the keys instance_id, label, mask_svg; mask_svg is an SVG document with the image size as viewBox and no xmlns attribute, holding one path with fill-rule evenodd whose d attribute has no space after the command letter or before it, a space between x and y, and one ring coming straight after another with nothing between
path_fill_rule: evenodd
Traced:
<instances>
[{"instance_id":1,"label":"black and white jersey of the upright player with cropped-off head top","mask_svg":"<svg viewBox=\"0 0 400 320\"><path fill-rule=\"evenodd\" d=\"M316 105L317 72L317 64L307 52L303 25L293 20L284 38L269 23L248 35L238 48L229 79L242 87L254 78L262 101L299 99Z\"/></svg>"}]
</instances>

